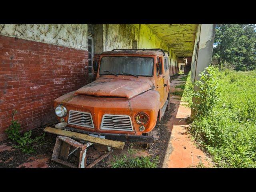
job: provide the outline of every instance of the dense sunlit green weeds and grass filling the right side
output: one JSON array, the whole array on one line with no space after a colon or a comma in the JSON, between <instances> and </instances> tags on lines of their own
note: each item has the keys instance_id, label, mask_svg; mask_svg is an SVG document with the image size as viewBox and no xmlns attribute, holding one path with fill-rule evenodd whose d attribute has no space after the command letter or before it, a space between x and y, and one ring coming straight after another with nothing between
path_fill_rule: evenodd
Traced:
<instances>
[{"instance_id":1,"label":"dense sunlit green weeds and grass filling the right side","mask_svg":"<svg viewBox=\"0 0 256 192\"><path fill-rule=\"evenodd\" d=\"M194 93L203 100L190 133L219 167L256 167L256 71L213 67ZM189 80L189 79L188 79ZM205 94L204 94L205 93ZM191 95L191 92L190 92Z\"/></svg>"}]
</instances>

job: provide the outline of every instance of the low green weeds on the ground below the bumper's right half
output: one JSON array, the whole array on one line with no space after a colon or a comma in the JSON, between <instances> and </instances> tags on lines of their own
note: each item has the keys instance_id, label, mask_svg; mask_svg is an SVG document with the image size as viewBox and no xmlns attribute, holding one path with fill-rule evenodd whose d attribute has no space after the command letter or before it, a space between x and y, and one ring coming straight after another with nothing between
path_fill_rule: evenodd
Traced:
<instances>
[{"instance_id":1,"label":"low green weeds on the ground below the bumper's right half","mask_svg":"<svg viewBox=\"0 0 256 192\"><path fill-rule=\"evenodd\" d=\"M134 157L136 150L132 147L128 148L128 156L126 154L118 157L114 156L111 162L112 168L157 168L159 157L140 156Z\"/></svg>"}]
</instances>

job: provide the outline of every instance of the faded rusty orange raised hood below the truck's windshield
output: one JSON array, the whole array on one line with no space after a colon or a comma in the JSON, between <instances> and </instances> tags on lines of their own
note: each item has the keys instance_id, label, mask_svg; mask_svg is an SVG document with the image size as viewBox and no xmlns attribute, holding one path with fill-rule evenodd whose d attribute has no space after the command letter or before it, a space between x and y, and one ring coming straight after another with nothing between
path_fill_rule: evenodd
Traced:
<instances>
[{"instance_id":1,"label":"faded rusty orange raised hood below the truck's windshield","mask_svg":"<svg viewBox=\"0 0 256 192\"><path fill-rule=\"evenodd\" d=\"M74 96L83 94L95 96L125 97L130 99L150 89L151 86L148 82L139 80L132 81L123 79L97 79L96 81L76 90Z\"/></svg>"}]
</instances>

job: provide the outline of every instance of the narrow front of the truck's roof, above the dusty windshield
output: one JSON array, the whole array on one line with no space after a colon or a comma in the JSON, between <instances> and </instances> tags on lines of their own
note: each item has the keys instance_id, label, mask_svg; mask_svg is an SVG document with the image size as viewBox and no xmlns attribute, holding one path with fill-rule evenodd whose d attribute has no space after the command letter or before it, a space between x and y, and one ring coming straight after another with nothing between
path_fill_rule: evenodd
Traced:
<instances>
[{"instance_id":1,"label":"narrow front of the truck's roof, above the dusty windshield","mask_svg":"<svg viewBox=\"0 0 256 192\"><path fill-rule=\"evenodd\" d=\"M110 55L110 54L138 54L138 55L163 55L163 52L158 50L112 50L112 51L105 51L102 52L103 55Z\"/></svg>"}]
</instances>

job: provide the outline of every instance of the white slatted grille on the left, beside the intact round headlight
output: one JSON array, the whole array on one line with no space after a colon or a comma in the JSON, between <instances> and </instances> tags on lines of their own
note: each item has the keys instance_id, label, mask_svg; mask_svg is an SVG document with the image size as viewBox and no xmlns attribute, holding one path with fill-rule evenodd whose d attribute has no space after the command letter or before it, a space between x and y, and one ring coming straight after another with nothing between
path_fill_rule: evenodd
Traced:
<instances>
[{"instance_id":1,"label":"white slatted grille on the left, beside the intact round headlight","mask_svg":"<svg viewBox=\"0 0 256 192\"><path fill-rule=\"evenodd\" d=\"M87 112L70 110L68 115L68 124L94 129L92 115Z\"/></svg>"}]
</instances>

